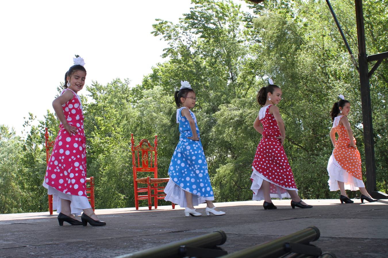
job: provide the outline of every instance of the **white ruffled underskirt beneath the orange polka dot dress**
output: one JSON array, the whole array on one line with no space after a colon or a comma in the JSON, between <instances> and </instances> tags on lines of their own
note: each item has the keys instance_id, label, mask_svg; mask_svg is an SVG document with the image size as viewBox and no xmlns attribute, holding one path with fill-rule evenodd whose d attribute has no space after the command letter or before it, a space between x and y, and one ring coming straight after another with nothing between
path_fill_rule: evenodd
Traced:
<instances>
[{"instance_id":1,"label":"white ruffled underskirt beneath the orange polka dot dress","mask_svg":"<svg viewBox=\"0 0 388 258\"><path fill-rule=\"evenodd\" d=\"M331 154L329 162L327 163L327 172L329 173L329 189L330 191L340 190L338 182L343 182L345 190L357 191L360 187L365 187L364 182L349 174L340 164L334 159Z\"/></svg>"}]
</instances>

